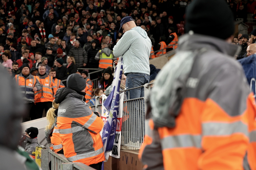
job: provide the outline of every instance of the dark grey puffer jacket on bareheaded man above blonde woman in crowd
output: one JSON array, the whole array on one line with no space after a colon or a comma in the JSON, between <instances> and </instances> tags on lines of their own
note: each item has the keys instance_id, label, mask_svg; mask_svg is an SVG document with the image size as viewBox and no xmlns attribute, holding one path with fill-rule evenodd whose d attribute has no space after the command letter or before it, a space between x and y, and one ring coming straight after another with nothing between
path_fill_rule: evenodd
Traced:
<instances>
[{"instance_id":1,"label":"dark grey puffer jacket on bareheaded man above blonde woman in crowd","mask_svg":"<svg viewBox=\"0 0 256 170\"><path fill-rule=\"evenodd\" d=\"M71 48L68 56L73 56L75 58L76 66L78 68L83 67L83 64L87 63L87 52L82 47Z\"/></svg>"}]
</instances>

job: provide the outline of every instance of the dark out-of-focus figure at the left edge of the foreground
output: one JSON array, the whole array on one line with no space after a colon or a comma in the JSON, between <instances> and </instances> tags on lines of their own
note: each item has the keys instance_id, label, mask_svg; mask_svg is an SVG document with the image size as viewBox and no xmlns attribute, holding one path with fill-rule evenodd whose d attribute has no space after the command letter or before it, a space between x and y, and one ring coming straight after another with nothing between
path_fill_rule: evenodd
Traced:
<instances>
[{"instance_id":1,"label":"dark out-of-focus figure at the left edge of the foreground","mask_svg":"<svg viewBox=\"0 0 256 170\"><path fill-rule=\"evenodd\" d=\"M0 68L0 165L1 169L39 170L36 163L18 148L24 104L16 83ZM4 81L3 81L4 80Z\"/></svg>"}]
</instances>

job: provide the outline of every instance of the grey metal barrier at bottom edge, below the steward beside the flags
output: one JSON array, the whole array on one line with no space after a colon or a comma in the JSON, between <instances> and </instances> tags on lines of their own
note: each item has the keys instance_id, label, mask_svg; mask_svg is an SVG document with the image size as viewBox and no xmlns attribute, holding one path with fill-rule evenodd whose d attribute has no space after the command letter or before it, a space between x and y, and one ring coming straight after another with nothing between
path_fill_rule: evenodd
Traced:
<instances>
[{"instance_id":1,"label":"grey metal barrier at bottom edge, below the steward beside the flags","mask_svg":"<svg viewBox=\"0 0 256 170\"><path fill-rule=\"evenodd\" d=\"M52 170L93 170L80 162L70 162L63 154L57 154L50 149L41 150L41 168L42 170L49 169L49 155L51 156L51 169Z\"/></svg>"}]
</instances>

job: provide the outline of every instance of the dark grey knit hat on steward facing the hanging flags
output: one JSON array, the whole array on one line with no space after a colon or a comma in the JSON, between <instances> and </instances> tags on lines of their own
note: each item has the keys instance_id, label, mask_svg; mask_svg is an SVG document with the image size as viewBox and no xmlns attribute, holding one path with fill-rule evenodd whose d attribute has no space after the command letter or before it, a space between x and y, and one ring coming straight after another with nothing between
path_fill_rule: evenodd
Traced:
<instances>
[{"instance_id":1,"label":"dark grey knit hat on steward facing the hanging flags","mask_svg":"<svg viewBox=\"0 0 256 170\"><path fill-rule=\"evenodd\" d=\"M72 90L82 91L86 87L86 81L79 74L71 74L67 79L67 87Z\"/></svg>"}]
</instances>

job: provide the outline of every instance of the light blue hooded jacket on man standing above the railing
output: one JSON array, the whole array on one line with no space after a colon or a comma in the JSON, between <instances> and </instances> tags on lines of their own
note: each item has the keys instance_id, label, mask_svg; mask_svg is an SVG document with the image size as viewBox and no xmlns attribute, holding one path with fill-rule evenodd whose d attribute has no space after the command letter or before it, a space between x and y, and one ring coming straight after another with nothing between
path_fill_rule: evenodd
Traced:
<instances>
[{"instance_id":1,"label":"light blue hooded jacket on man standing above the railing","mask_svg":"<svg viewBox=\"0 0 256 170\"><path fill-rule=\"evenodd\" d=\"M113 48L115 57L123 57L124 73L144 73L150 75L149 56L151 40L140 27L126 31Z\"/></svg>"}]
</instances>

